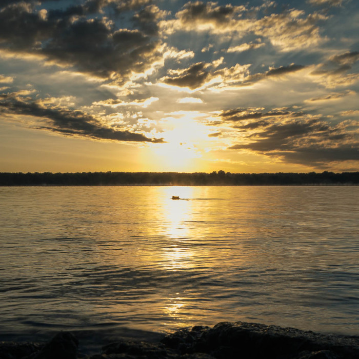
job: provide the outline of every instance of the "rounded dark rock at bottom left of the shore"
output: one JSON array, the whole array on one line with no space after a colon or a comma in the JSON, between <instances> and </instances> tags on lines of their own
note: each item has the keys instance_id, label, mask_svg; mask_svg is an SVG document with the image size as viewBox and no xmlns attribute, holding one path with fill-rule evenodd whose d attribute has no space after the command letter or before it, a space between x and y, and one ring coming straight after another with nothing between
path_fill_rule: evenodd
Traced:
<instances>
[{"instance_id":1,"label":"rounded dark rock at bottom left of the shore","mask_svg":"<svg viewBox=\"0 0 359 359\"><path fill-rule=\"evenodd\" d=\"M27 359L76 359L78 340L70 332L56 334L50 342Z\"/></svg>"}]
</instances>

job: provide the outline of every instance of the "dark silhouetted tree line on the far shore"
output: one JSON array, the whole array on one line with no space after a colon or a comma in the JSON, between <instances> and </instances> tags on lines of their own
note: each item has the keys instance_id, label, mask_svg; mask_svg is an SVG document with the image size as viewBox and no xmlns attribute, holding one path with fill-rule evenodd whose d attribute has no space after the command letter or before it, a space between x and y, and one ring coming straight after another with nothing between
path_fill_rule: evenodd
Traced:
<instances>
[{"instance_id":1,"label":"dark silhouetted tree line on the far shore","mask_svg":"<svg viewBox=\"0 0 359 359\"><path fill-rule=\"evenodd\" d=\"M211 173L178 172L0 172L0 186L293 186L359 185L359 172Z\"/></svg>"}]
</instances>

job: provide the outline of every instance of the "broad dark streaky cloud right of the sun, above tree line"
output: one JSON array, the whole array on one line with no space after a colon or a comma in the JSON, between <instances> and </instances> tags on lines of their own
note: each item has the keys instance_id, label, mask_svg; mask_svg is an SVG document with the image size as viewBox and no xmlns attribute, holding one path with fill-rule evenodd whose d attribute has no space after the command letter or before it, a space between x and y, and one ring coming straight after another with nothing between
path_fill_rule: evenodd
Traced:
<instances>
[{"instance_id":1,"label":"broad dark streaky cloud right of the sun, above tree line","mask_svg":"<svg viewBox=\"0 0 359 359\"><path fill-rule=\"evenodd\" d=\"M245 137L245 142L229 149L260 152L267 156L280 156L285 162L309 165L354 160L359 158L359 143L346 130L347 126L349 124L344 122L331 125L300 112L260 121L253 119L233 126L241 132L251 132Z\"/></svg>"}]
</instances>

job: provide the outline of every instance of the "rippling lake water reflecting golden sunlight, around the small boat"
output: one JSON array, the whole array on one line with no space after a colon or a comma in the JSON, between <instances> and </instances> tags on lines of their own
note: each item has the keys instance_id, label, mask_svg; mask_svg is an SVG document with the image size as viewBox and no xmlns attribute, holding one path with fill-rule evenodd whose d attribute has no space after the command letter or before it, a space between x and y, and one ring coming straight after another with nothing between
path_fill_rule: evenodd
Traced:
<instances>
[{"instance_id":1,"label":"rippling lake water reflecting golden sunlight, around the small boat","mask_svg":"<svg viewBox=\"0 0 359 359\"><path fill-rule=\"evenodd\" d=\"M358 194L0 188L0 336L149 337L221 321L357 335Z\"/></svg>"}]
</instances>

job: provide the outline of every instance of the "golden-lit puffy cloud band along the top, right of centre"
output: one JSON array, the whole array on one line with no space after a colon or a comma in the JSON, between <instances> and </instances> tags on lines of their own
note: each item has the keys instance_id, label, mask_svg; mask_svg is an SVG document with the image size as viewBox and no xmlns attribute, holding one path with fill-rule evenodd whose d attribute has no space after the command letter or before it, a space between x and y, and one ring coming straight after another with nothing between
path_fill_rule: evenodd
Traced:
<instances>
[{"instance_id":1,"label":"golden-lit puffy cloud band along the top, right of centre","mask_svg":"<svg viewBox=\"0 0 359 359\"><path fill-rule=\"evenodd\" d=\"M272 5L270 5L272 6ZM317 24L328 16L289 9L263 16L258 7L217 6L215 2L189 2L179 10L176 19L162 21L159 26L167 34L175 31L210 32L228 38L243 38L249 34L265 37L281 51L310 48L327 41ZM206 48L204 48L206 49Z\"/></svg>"}]
</instances>

